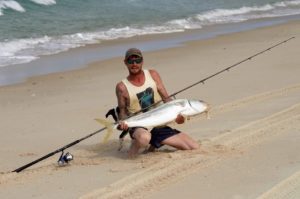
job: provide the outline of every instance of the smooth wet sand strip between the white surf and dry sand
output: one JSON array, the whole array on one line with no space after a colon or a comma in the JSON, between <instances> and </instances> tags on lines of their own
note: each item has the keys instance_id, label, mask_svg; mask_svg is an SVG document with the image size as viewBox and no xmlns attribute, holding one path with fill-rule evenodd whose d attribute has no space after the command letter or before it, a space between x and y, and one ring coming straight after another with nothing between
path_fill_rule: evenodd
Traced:
<instances>
[{"instance_id":1,"label":"smooth wet sand strip between the white surf and dry sand","mask_svg":"<svg viewBox=\"0 0 300 199\"><path fill-rule=\"evenodd\" d=\"M20 84L40 75L60 73L86 68L93 62L123 57L126 49L135 46L144 52L176 48L185 43L212 39L218 36L267 28L300 20L300 15L256 19L234 24L208 26L199 30L179 33L134 36L103 41L99 44L70 49L54 55L45 55L29 63L0 68L0 87Z\"/></svg>"}]
</instances>

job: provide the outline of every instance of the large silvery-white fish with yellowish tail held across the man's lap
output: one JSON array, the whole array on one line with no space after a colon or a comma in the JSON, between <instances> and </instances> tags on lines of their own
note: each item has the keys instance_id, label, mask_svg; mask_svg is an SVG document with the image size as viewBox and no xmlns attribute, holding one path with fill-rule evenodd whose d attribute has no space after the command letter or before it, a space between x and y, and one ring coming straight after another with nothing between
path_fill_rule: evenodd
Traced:
<instances>
[{"instance_id":1,"label":"large silvery-white fish with yellowish tail held across the man's lap","mask_svg":"<svg viewBox=\"0 0 300 199\"><path fill-rule=\"evenodd\" d=\"M175 99L123 121L128 127L156 127L175 121L179 114L189 118L207 112L208 107L208 104L201 100ZM101 124L105 123L102 119L96 120ZM113 128L117 126L118 124L114 124Z\"/></svg>"}]
</instances>

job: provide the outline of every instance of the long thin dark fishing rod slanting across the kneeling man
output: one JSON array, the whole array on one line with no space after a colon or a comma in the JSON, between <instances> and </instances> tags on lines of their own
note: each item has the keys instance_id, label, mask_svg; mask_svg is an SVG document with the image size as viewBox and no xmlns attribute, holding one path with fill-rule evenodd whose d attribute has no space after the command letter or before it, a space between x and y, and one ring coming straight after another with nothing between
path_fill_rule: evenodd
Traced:
<instances>
[{"instance_id":1,"label":"long thin dark fishing rod slanting across the kneeling man","mask_svg":"<svg viewBox=\"0 0 300 199\"><path fill-rule=\"evenodd\" d=\"M283 44L283 43L286 43L286 42L288 42L288 41L290 41L290 40L292 40L292 39L295 39L295 37L291 37L291 38L289 38L289 39L286 39L286 40L284 40L284 41L281 41L281 42L279 42L279 43L277 43L277 44L275 44L275 45L273 45L273 46L271 46L271 47L269 47L269 48L267 48L267 49L265 49L265 50L262 50L262 51L260 51L260 52L258 52L258 53L256 53L256 54L254 54L254 55L252 55L252 56L250 56L250 57L247 57L247 58L245 58L245 59L243 59L243 60L241 60L241 61L239 61L239 62L237 62L237 63L235 63L235 64L233 64L233 65L231 65L231 66L229 66L229 67L227 67L227 68L225 68L225 69L223 69L223 70L220 70L219 72L216 72L216 73L214 73L214 74L212 74L212 75L210 75L210 76L208 76L208 77L206 77L206 78L204 78L204 79L202 79L202 80L200 80L200 81L197 81L197 82L195 82L195 83L193 83L193 84L191 84L191 85L189 85L189 86L187 86L187 87L185 87L185 88L183 88L183 89L181 89L181 90L179 90L179 91L177 91L177 92L175 92L175 93L169 95L168 98L175 97L177 94L179 94L179 93L181 93L181 92L183 92L183 91L185 91L185 90L188 90L188 89L190 89L190 88L192 88L192 87L194 87L194 86L196 86L196 85L198 85L198 84L200 84L200 83L203 83L203 84L204 84L205 81L207 81L207 80L209 80L209 79L211 79L211 78L213 78L213 77L215 77L215 76L217 76L217 75L219 75L219 74L221 74L221 73L223 73L223 72L229 71L231 68L236 67L236 66L238 66L238 65L240 65L240 64L242 64L242 63L244 63L244 62L246 62L246 61L249 61L249 60L251 60L252 58L254 58L254 57L258 56L258 55L261 55L261 54L265 53L266 51L269 51L269 50L271 50L272 48L275 48L275 47L277 47L277 46L279 46L279 45L281 45L281 44ZM146 108L144 108L144 109L141 109L141 110L135 112L133 115L136 115L136 114L138 114L138 113L144 112L145 110L148 110L149 108L151 108L151 107L153 107L153 106L159 104L160 102L162 102L162 100L160 100L160 101L157 102L157 103L152 104L151 106L148 106L148 107L146 107ZM132 115L132 116L133 116L133 115ZM131 117L132 117L132 116L131 116ZM114 124L117 124L117 122L115 122ZM59 152L62 152L62 155L63 155L63 152L64 152L65 149L70 148L71 146L74 146L74 145L78 144L79 142L81 142L81 141L83 141L83 140L85 140L85 139L87 139L87 138L89 138L89 137L92 137L92 136L96 135L97 133L100 133L100 132L102 132L102 131L104 131L104 130L106 130L106 129L107 129L107 127L104 127L104 128L102 128L102 129L99 129L99 130L97 130L97 131L95 131L95 132L93 132L93 133L91 133L91 134L89 134L89 135L87 135L87 136L85 136L85 137L82 137L82 138L80 138L80 139L78 139L78 140L75 140L75 141L73 141L73 142L71 142L71 143L69 143L69 144L67 144L67 145L65 145L65 146L63 146L63 147L61 147L61 148L59 148L59 149L57 149L57 150L55 150L55 151L53 151L53 152L51 152L51 153L45 155L45 156L43 156L43 157L37 159L37 160L34 160L34 161L32 161L32 162L30 162L30 163L24 165L24 166L21 166L21 167L15 169L15 170L13 170L12 172L17 172L17 173L19 173L19 172L23 171L24 169L26 169L26 168L28 168L28 167L30 167L30 166L32 166L32 165L34 165L34 164L36 164L36 163L38 163L38 162L44 160L44 159L47 159L47 158L49 158L49 157L51 157L51 156L53 156L53 155L55 155L55 154L57 154L57 153L59 153ZM62 155L61 155L61 157L62 157Z\"/></svg>"}]
</instances>

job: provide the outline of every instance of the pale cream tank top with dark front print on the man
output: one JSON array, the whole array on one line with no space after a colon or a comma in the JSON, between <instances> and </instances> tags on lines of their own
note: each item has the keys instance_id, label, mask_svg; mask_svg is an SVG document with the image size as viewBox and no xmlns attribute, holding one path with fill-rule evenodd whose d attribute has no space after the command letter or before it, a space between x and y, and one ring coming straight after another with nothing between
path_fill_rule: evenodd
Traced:
<instances>
[{"instance_id":1,"label":"pale cream tank top with dark front print on the man","mask_svg":"<svg viewBox=\"0 0 300 199\"><path fill-rule=\"evenodd\" d=\"M161 100L156 83L150 72L148 70L143 71L145 82L142 86L135 86L127 79L122 80L129 95L129 105L127 106L129 115L140 111L141 109L145 109Z\"/></svg>"}]
</instances>

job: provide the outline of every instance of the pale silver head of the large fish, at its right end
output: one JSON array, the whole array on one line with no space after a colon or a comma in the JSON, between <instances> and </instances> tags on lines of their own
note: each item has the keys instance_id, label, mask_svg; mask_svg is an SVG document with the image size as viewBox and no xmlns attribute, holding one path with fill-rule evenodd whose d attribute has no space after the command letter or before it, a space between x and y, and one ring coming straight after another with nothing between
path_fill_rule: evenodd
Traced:
<instances>
[{"instance_id":1,"label":"pale silver head of the large fish, at its right end","mask_svg":"<svg viewBox=\"0 0 300 199\"><path fill-rule=\"evenodd\" d=\"M202 100L187 100L186 108L181 112L184 116L198 115L207 111L208 104Z\"/></svg>"}]
</instances>

